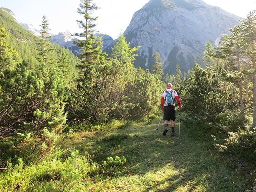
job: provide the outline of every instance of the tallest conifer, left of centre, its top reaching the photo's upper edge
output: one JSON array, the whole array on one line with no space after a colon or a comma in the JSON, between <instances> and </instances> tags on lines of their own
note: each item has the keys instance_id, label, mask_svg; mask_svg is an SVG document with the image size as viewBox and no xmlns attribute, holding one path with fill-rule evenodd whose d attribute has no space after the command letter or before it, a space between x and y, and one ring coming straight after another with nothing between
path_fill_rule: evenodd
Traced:
<instances>
[{"instance_id":1,"label":"tallest conifer, left of centre, its top reaching the photo's upper edge","mask_svg":"<svg viewBox=\"0 0 256 192\"><path fill-rule=\"evenodd\" d=\"M76 34L82 38L74 41L81 52L78 68L79 77L77 79L77 90L73 90L73 99L70 101L70 116L78 118L77 121L88 122L92 116L99 117L98 105L100 104L102 85L100 80L102 78L102 70L106 67L105 61L106 53L102 52L102 41L93 33L95 32L94 22L97 17L92 17L93 11L98 7L92 3L92 0L81 0L80 6L77 10L79 14L84 17L84 20L77 20L83 32Z\"/></svg>"}]
</instances>

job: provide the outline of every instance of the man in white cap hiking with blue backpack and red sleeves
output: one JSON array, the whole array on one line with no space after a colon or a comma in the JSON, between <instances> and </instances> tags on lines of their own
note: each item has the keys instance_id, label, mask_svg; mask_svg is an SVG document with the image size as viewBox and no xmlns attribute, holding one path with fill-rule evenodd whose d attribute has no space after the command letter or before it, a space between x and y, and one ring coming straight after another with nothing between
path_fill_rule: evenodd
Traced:
<instances>
[{"instance_id":1,"label":"man in white cap hiking with blue backpack and red sleeves","mask_svg":"<svg viewBox=\"0 0 256 192\"><path fill-rule=\"evenodd\" d=\"M175 126L175 99L178 102L179 110L182 109L180 98L175 90L172 90L172 84L167 83L166 90L162 91L161 94L161 107L164 112L164 132L163 135L166 136L168 132L168 121L171 120L172 133L171 136L174 136L174 126Z\"/></svg>"}]
</instances>

